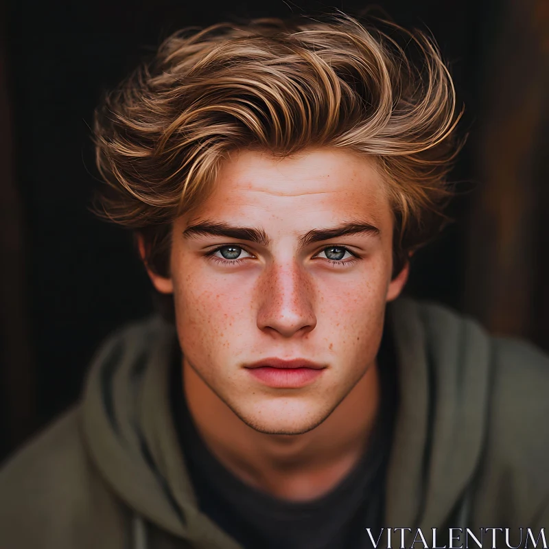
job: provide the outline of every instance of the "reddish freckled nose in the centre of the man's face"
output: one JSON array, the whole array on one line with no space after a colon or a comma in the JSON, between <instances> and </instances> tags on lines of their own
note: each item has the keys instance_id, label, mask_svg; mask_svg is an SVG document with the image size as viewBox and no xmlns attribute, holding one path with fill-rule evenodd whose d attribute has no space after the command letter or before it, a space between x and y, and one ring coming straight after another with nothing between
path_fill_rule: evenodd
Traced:
<instances>
[{"instance_id":1,"label":"reddish freckled nose in the centre of the man's face","mask_svg":"<svg viewBox=\"0 0 549 549\"><path fill-rule=\"evenodd\" d=\"M259 284L257 327L289 338L316 326L312 282L296 261L272 264Z\"/></svg>"}]
</instances>

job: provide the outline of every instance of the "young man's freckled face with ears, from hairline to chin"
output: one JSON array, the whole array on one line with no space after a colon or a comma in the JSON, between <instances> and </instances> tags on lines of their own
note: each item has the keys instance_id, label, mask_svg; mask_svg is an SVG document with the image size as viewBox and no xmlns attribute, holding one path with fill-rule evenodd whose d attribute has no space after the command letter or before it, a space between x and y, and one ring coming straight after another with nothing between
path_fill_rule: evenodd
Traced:
<instances>
[{"instance_id":1,"label":"young man's freckled face with ears, from hairline to chin","mask_svg":"<svg viewBox=\"0 0 549 549\"><path fill-rule=\"evenodd\" d=\"M184 368L259 432L320 425L375 365L393 217L373 161L240 152L174 223L171 278Z\"/></svg>"}]
</instances>

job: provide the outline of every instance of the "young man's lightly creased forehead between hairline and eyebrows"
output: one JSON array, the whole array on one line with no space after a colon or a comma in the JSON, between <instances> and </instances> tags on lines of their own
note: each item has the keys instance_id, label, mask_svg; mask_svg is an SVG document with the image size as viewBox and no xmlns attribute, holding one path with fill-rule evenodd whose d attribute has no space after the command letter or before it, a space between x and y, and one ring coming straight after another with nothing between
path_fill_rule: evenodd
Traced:
<instances>
[{"instance_id":1,"label":"young man's lightly creased forehead between hairline and eyebrows","mask_svg":"<svg viewBox=\"0 0 549 549\"><path fill-rule=\"evenodd\" d=\"M385 183L375 161L353 152L319 148L275 158L241 151L222 163L213 193L198 217L363 217L390 215ZM242 221L242 219L241 219ZM382 222L379 219L378 222Z\"/></svg>"}]
</instances>

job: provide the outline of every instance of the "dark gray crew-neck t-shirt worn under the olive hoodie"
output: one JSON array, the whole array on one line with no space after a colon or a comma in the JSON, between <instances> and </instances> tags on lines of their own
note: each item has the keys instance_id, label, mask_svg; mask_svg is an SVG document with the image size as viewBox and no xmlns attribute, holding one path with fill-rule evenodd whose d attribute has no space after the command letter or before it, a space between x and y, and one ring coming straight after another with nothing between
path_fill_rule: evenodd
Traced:
<instances>
[{"instance_id":1,"label":"dark gray crew-neck t-shirt worn under the olive hoodie","mask_svg":"<svg viewBox=\"0 0 549 549\"><path fill-rule=\"evenodd\" d=\"M198 504L246 549L358 549L372 547L383 526L386 462L396 408L395 361L387 333L378 355L382 406L366 453L328 493L289 502L250 487L209 451L187 408L180 355L174 361L172 404Z\"/></svg>"}]
</instances>

